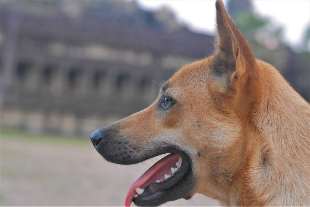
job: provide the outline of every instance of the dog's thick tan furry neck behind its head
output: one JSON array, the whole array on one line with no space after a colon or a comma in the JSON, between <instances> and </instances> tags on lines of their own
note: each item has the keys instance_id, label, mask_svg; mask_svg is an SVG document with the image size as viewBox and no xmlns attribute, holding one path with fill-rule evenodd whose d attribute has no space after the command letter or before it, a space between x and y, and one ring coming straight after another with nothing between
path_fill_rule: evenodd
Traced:
<instances>
[{"instance_id":1,"label":"dog's thick tan furry neck behind its head","mask_svg":"<svg viewBox=\"0 0 310 207\"><path fill-rule=\"evenodd\" d=\"M262 94L239 137L244 154L228 204L296 205L310 197L309 104L273 66L258 63Z\"/></svg>"}]
</instances>

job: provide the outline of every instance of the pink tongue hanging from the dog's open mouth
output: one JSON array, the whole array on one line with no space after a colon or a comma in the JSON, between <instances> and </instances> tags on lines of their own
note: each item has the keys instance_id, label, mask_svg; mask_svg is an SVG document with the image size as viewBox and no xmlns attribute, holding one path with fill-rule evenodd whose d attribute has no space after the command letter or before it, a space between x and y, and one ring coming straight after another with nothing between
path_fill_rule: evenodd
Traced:
<instances>
[{"instance_id":1,"label":"pink tongue hanging from the dog's open mouth","mask_svg":"<svg viewBox=\"0 0 310 207\"><path fill-rule=\"evenodd\" d=\"M149 178L151 178L153 175L157 173L163 166L168 165L169 163L176 163L179 159L178 154L170 154L166 157L159 160L157 163L155 163L152 167L150 167L143 175L141 175L134 183L131 184L131 187L129 188L129 191L127 193L126 199L125 199L125 206L130 206L132 199L134 195L136 194L135 189L137 187L142 186L145 182L148 181Z\"/></svg>"}]
</instances>

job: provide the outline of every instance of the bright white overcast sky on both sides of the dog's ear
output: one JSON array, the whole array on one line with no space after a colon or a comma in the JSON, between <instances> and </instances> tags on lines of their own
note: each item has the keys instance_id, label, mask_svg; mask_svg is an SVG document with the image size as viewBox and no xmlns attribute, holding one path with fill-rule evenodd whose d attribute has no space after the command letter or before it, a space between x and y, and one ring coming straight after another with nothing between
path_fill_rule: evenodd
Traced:
<instances>
[{"instance_id":1,"label":"bright white overcast sky on both sides of the dog's ear","mask_svg":"<svg viewBox=\"0 0 310 207\"><path fill-rule=\"evenodd\" d=\"M226 1L224 4L226 6ZM190 29L202 32L215 32L215 1L210 0L138 0L145 10L155 10L167 6L174 11L177 19ZM284 41L292 47L301 44L301 38L310 22L309 0L259 0L254 1L255 13L271 17L272 21L284 27Z\"/></svg>"}]
</instances>

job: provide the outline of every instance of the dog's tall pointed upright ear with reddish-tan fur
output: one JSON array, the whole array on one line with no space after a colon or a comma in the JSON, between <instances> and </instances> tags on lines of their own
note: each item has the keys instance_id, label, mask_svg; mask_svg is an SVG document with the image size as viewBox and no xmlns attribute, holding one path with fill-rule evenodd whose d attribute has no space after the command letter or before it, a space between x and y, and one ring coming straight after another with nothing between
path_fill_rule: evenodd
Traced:
<instances>
[{"instance_id":1,"label":"dog's tall pointed upright ear with reddish-tan fur","mask_svg":"<svg viewBox=\"0 0 310 207\"><path fill-rule=\"evenodd\" d=\"M217 92L226 95L235 106L252 102L257 95L259 74L255 57L222 1L217 0L216 23L218 39L213 60L212 82Z\"/></svg>"}]
</instances>

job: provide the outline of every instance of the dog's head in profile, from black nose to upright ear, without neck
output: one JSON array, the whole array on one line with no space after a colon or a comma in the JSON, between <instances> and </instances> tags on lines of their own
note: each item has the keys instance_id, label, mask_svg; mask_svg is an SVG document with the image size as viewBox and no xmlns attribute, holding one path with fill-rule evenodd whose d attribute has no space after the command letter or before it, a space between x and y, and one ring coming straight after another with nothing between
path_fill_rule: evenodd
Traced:
<instances>
[{"instance_id":1,"label":"dog's head in profile, from black nose to upright ear, without neck","mask_svg":"<svg viewBox=\"0 0 310 207\"><path fill-rule=\"evenodd\" d=\"M126 206L131 201L156 206L195 193L227 200L225 192L241 167L241 137L260 80L250 47L221 1L216 20L213 56L181 68L148 108L91 135L96 150L117 164L171 153L132 184Z\"/></svg>"}]
</instances>

